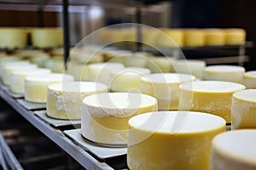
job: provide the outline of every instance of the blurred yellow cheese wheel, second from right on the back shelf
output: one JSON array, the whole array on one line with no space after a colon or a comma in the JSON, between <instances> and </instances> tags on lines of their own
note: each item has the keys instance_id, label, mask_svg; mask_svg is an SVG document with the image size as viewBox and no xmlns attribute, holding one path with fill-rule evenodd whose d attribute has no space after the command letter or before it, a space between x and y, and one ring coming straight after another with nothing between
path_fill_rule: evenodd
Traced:
<instances>
[{"instance_id":1,"label":"blurred yellow cheese wheel, second from right on the back shelf","mask_svg":"<svg viewBox=\"0 0 256 170\"><path fill-rule=\"evenodd\" d=\"M206 45L222 46L225 45L225 32L221 29L205 29Z\"/></svg>"}]
</instances>

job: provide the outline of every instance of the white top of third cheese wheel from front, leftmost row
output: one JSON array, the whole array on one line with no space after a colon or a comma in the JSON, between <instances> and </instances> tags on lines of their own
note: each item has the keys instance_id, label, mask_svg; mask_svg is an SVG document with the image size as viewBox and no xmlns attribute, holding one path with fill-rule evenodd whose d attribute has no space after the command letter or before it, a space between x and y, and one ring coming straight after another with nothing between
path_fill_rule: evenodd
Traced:
<instances>
[{"instance_id":1,"label":"white top of third cheese wheel from front, leftmost row","mask_svg":"<svg viewBox=\"0 0 256 170\"><path fill-rule=\"evenodd\" d=\"M100 82L57 82L49 85L48 88L55 91L78 92L78 93L108 91L108 86Z\"/></svg>"}]
</instances>

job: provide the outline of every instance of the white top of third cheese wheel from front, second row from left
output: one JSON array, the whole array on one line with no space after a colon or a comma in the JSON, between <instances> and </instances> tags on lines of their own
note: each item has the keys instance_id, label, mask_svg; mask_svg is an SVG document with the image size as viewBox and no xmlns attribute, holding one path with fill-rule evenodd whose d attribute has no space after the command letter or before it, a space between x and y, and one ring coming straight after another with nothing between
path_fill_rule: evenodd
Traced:
<instances>
[{"instance_id":1,"label":"white top of third cheese wheel from front, second row from left","mask_svg":"<svg viewBox=\"0 0 256 170\"><path fill-rule=\"evenodd\" d=\"M144 76L142 80L144 82L179 83L195 81L195 77L187 74L155 73Z\"/></svg>"}]
</instances>

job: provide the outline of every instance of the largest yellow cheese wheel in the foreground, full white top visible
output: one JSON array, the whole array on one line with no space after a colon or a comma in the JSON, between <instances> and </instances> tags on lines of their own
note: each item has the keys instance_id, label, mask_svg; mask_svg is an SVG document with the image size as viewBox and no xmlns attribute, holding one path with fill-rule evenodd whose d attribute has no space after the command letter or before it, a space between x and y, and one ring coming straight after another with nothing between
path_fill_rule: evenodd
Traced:
<instances>
[{"instance_id":1,"label":"largest yellow cheese wheel in the foreground, full white top visible","mask_svg":"<svg viewBox=\"0 0 256 170\"><path fill-rule=\"evenodd\" d=\"M130 169L209 170L212 139L225 131L221 117L199 112L159 111L130 119Z\"/></svg>"}]
</instances>

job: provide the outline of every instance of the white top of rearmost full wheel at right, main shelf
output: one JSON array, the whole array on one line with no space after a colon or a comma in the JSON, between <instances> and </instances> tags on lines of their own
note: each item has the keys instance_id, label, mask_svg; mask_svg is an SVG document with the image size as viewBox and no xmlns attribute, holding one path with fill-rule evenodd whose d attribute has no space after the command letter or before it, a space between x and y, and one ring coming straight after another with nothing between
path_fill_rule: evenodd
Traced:
<instances>
[{"instance_id":1,"label":"white top of rearmost full wheel at right, main shelf","mask_svg":"<svg viewBox=\"0 0 256 170\"><path fill-rule=\"evenodd\" d=\"M234 71L245 71L245 68L243 68L242 66L236 66L236 65L211 65L211 66L207 66L205 71L234 72Z\"/></svg>"}]
</instances>

